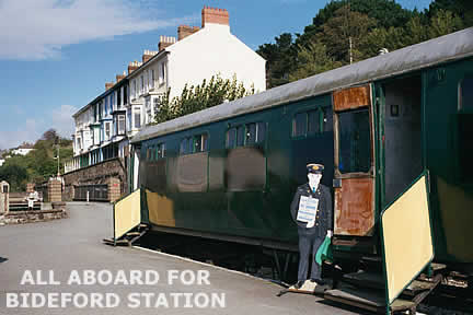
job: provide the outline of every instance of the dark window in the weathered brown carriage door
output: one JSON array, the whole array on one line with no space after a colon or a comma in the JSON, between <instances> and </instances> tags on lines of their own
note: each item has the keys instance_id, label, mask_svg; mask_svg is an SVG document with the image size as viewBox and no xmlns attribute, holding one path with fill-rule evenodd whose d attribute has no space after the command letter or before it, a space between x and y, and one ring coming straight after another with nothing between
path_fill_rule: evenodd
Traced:
<instances>
[{"instance_id":1,"label":"dark window in the weathered brown carriage door","mask_svg":"<svg viewBox=\"0 0 473 315\"><path fill-rule=\"evenodd\" d=\"M368 108L338 114L339 161L342 173L369 172L370 124Z\"/></svg>"}]
</instances>

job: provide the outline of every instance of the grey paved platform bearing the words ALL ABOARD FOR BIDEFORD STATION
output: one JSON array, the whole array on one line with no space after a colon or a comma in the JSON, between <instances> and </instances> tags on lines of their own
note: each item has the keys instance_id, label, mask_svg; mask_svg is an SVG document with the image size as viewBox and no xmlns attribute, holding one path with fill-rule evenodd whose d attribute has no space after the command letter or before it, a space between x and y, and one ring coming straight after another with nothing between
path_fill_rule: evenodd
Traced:
<instances>
[{"instance_id":1,"label":"grey paved platform bearing the words ALL ABOARD FOR BIDEFORD STATION","mask_svg":"<svg viewBox=\"0 0 473 315\"><path fill-rule=\"evenodd\" d=\"M112 206L73 202L68 203L67 209L69 219L0 226L0 314L357 314L354 310L332 306L312 295L288 293L277 298L276 294L281 289L279 285L247 275L165 254L103 245L102 240L112 235ZM33 279L26 277L28 276L26 270L32 271ZM42 271L42 279L37 279L38 270ZM54 272L54 280L48 280L49 270ZM101 273L102 282L107 280L106 276L109 272L117 284L84 285L82 283L79 285L77 281L68 284L71 279L78 280L72 277L74 270L79 276L82 276L84 270L91 270L88 271L89 275L94 272L95 276L101 270L106 270ZM130 270L137 270L131 272L151 270L153 275L158 273L160 279L151 285L139 284L136 278L136 283L126 283L131 281ZM177 279L170 284L172 277L169 276L169 270L189 271L185 275L180 273L183 277L187 276L183 281ZM198 276L199 270L205 270L200 271L201 284L185 283L191 282L192 275ZM127 275L127 279L117 278L118 273ZM22 278L25 284L21 284ZM33 280L36 281L35 284L32 284ZM38 283L39 280L46 281L47 284ZM80 277L79 280L84 281L85 278ZM55 282L60 284L54 284ZM55 292L62 292L62 299L71 294L69 298L78 299L76 301L78 304L71 305L66 301L68 306L66 308L61 308L60 305L58 308L32 308L30 294L26 299L30 307L7 308L8 293L15 293L20 300L23 295L26 296L21 293L39 293L35 299L41 305L41 296L48 296L47 294ZM103 308L114 303L106 304L105 300L102 300L101 305L99 300L95 300L95 308L91 308L93 294L96 299L100 296L105 299L106 294L113 294L120 301L116 307ZM135 294L132 295L135 299L130 300L129 294ZM79 308L84 295L90 299L89 303L83 308ZM206 302L205 296L210 300L217 296L216 307L210 307L209 302L208 307L199 308ZM222 296L224 296L223 303ZM51 300L53 306L57 305L58 302L53 298L48 301ZM11 305L15 303L10 302ZM147 302L149 307L146 305ZM168 303L168 307L164 302ZM140 307L134 308L137 303ZM159 308L154 308L157 304Z\"/></svg>"}]
</instances>

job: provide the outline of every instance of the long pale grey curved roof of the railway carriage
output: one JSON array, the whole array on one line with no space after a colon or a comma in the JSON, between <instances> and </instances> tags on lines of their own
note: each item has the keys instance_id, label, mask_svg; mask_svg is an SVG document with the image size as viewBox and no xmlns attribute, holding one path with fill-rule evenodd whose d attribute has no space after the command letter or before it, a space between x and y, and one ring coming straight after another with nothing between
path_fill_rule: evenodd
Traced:
<instances>
[{"instance_id":1,"label":"long pale grey curved roof of the railway carriage","mask_svg":"<svg viewBox=\"0 0 473 315\"><path fill-rule=\"evenodd\" d=\"M473 27L223 103L139 131L131 143L473 56Z\"/></svg>"}]
</instances>

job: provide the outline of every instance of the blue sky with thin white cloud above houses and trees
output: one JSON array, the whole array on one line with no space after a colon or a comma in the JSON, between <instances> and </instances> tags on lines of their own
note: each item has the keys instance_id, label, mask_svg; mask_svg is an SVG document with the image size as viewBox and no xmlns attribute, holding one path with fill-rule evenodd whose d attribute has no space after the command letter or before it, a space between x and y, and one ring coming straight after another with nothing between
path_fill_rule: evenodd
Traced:
<instances>
[{"instance_id":1,"label":"blue sky with thin white cloud above houses and trees","mask_svg":"<svg viewBox=\"0 0 473 315\"><path fill-rule=\"evenodd\" d=\"M0 149L34 142L55 128L73 132L71 115L105 82L158 50L160 35L200 26L204 5L227 9L231 33L252 49L281 33L302 33L328 0L0 0ZM431 0L396 0L427 8Z\"/></svg>"}]
</instances>

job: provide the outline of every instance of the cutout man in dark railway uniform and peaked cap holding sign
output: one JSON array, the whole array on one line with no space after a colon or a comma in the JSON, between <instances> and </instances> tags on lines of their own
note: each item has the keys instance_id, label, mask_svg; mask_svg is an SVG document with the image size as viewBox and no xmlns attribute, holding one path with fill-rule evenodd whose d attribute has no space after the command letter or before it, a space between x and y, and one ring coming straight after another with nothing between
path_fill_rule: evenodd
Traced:
<instances>
[{"instance_id":1,"label":"cutout man in dark railway uniform and peaked cap holding sign","mask_svg":"<svg viewBox=\"0 0 473 315\"><path fill-rule=\"evenodd\" d=\"M332 195L330 189L320 184L324 166L322 164L308 164L309 183L298 187L291 202L291 215L298 224L299 234L299 271L296 289L300 289L308 279L309 257L312 261L310 280L318 284L324 284L321 278L322 266L315 262L314 255L325 240L325 235L332 237ZM314 218L309 222L298 220L298 211L301 196L315 198L318 209ZM300 219L300 217L299 217ZM312 255L310 255L312 249Z\"/></svg>"}]
</instances>

